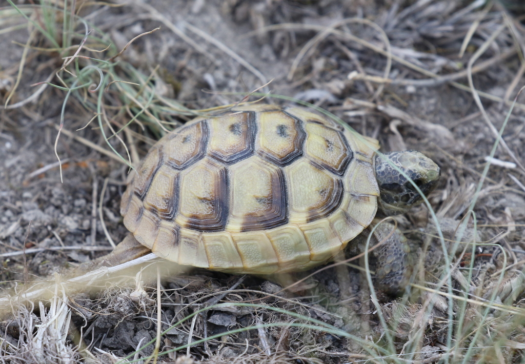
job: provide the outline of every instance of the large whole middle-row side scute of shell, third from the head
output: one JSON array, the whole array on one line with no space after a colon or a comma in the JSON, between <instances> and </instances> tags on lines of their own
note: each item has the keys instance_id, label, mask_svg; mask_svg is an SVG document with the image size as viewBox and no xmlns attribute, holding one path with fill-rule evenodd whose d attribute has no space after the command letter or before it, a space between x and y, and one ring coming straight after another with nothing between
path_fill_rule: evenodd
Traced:
<instances>
[{"instance_id":1,"label":"large whole middle-row side scute of shell, third from the head","mask_svg":"<svg viewBox=\"0 0 525 364\"><path fill-rule=\"evenodd\" d=\"M226 167L204 159L181 172L175 223L197 231L224 230L228 218Z\"/></svg>"}]
</instances>

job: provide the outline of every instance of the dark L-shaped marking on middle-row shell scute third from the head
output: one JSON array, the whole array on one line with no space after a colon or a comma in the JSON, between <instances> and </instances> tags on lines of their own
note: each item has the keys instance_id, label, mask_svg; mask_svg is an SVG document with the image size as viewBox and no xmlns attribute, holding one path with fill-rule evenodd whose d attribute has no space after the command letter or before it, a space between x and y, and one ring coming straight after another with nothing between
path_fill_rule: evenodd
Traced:
<instances>
[{"instance_id":1,"label":"dark L-shaped marking on middle-row shell scute third from the head","mask_svg":"<svg viewBox=\"0 0 525 364\"><path fill-rule=\"evenodd\" d=\"M215 180L213 199L201 199L213 213L208 216L193 215L184 227L200 232L223 231L229 215L229 175L226 167L220 167Z\"/></svg>"}]
</instances>

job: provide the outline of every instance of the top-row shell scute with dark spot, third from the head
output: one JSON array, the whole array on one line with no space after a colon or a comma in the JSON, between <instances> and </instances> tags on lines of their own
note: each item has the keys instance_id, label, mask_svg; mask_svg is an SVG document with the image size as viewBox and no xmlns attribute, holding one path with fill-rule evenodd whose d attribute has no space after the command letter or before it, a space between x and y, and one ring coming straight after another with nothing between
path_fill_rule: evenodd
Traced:
<instances>
[{"instance_id":1,"label":"top-row shell scute with dark spot, third from the head","mask_svg":"<svg viewBox=\"0 0 525 364\"><path fill-rule=\"evenodd\" d=\"M211 118L208 154L219 161L232 163L248 157L255 147L255 113L235 112Z\"/></svg>"}]
</instances>

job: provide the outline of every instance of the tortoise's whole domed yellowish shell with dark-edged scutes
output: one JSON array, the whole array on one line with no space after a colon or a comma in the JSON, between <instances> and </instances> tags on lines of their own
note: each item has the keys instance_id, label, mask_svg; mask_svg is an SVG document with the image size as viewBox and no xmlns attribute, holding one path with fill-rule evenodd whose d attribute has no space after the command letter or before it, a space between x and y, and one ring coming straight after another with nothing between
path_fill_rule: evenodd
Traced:
<instances>
[{"instance_id":1,"label":"tortoise's whole domed yellowish shell with dark-edged scutes","mask_svg":"<svg viewBox=\"0 0 525 364\"><path fill-rule=\"evenodd\" d=\"M156 255L230 273L301 271L368 226L377 141L299 108L196 118L149 151L122 196L124 225Z\"/></svg>"}]
</instances>

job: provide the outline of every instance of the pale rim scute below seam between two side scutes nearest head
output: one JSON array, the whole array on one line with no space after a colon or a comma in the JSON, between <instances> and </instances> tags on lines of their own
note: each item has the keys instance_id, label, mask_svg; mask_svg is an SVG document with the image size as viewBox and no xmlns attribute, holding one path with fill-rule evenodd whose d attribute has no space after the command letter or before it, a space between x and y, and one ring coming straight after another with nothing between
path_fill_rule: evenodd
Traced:
<instances>
[{"instance_id":1,"label":"pale rim scute below seam between two side scutes nearest head","mask_svg":"<svg viewBox=\"0 0 525 364\"><path fill-rule=\"evenodd\" d=\"M279 259L279 272L298 271L310 262L310 249L301 229L288 224L266 232Z\"/></svg>"}]
</instances>

